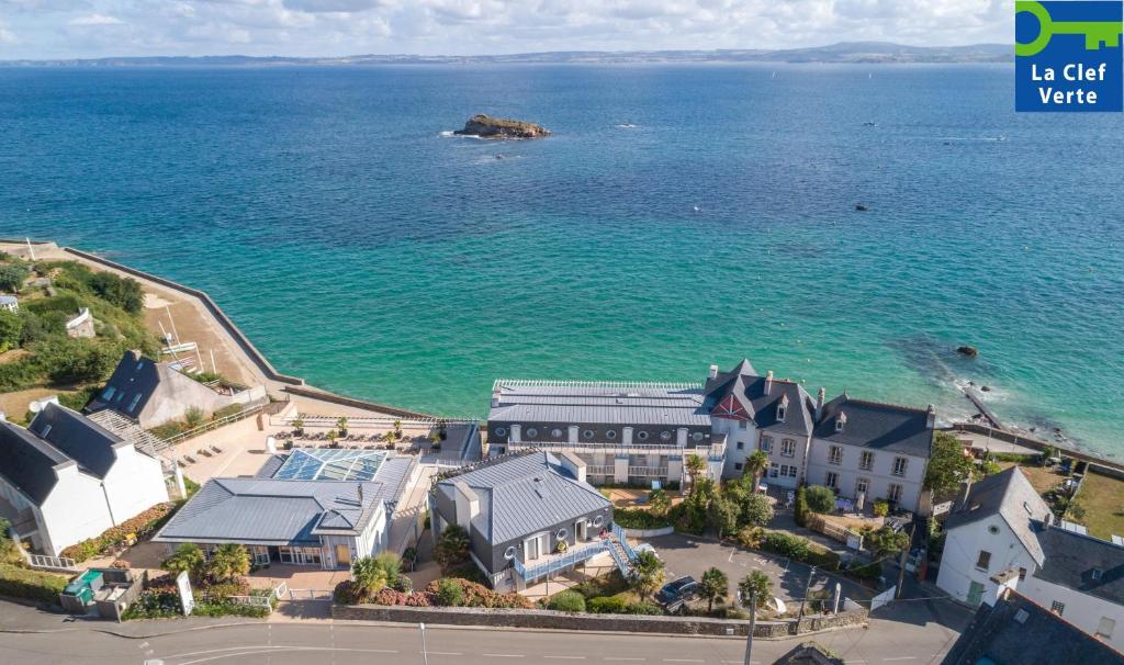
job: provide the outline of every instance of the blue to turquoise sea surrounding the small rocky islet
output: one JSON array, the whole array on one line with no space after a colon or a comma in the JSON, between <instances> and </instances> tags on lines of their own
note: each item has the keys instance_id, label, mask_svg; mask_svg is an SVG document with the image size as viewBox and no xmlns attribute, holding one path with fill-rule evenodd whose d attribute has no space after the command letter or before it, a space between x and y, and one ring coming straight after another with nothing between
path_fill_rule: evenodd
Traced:
<instances>
[{"instance_id":1,"label":"blue to turquoise sea surrounding the small rocky islet","mask_svg":"<svg viewBox=\"0 0 1124 665\"><path fill-rule=\"evenodd\" d=\"M1015 115L1012 79L0 70L0 235L205 289L280 370L404 407L749 356L948 417L985 383L1001 418L1124 454L1124 117ZM555 136L442 136L481 111Z\"/></svg>"}]
</instances>

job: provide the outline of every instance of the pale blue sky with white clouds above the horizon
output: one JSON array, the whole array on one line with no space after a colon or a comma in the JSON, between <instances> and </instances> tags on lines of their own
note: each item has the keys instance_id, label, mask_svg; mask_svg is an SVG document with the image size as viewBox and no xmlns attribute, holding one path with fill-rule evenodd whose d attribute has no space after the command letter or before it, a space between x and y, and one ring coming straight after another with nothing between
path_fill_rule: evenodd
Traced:
<instances>
[{"instance_id":1,"label":"pale blue sky with white clouds above the horizon","mask_svg":"<svg viewBox=\"0 0 1124 665\"><path fill-rule=\"evenodd\" d=\"M1009 43L1014 0L0 0L0 61Z\"/></svg>"}]
</instances>

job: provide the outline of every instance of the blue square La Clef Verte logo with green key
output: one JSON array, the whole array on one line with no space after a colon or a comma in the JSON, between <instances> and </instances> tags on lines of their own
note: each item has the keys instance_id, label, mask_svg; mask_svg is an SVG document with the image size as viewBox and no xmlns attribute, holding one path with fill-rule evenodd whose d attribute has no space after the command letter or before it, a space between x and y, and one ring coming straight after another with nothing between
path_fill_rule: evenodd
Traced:
<instances>
[{"instance_id":1,"label":"blue square La Clef Verte logo with green key","mask_svg":"<svg viewBox=\"0 0 1124 665\"><path fill-rule=\"evenodd\" d=\"M1124 2L1015 2L1015 110L1124 110Z\"/></svg>"}]
</instances>

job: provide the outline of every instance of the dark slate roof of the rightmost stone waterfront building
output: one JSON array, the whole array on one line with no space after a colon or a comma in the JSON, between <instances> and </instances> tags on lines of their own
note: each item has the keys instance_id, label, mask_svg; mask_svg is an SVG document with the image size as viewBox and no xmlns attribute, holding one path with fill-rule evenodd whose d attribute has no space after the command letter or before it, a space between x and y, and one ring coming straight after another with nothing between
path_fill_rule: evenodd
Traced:
<instances>
[{"instance_id":1,"label":"dark slate roof of the rightmost stone waterfront building","mask_svg":"<svg viewBox=\"0 0 1124 665\"><path fill-rule=\"evenodd\" d=\"M835 431L840 413L846 415L846 423L843 431ZM824 404L813 434L825 441L928 457L933 431L923 409L855 400L843 393Z\"/></svg>"}]
</instances>

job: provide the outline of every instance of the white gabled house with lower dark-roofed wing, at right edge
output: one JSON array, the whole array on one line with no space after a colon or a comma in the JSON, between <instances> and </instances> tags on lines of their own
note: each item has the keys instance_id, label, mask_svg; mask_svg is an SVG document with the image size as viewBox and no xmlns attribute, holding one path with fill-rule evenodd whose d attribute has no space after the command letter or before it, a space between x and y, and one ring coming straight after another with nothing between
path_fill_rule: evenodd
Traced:
<instances>
[{"instance_id":1,"label":"white gabled house with lower dark-roofed wing, at right edge","mask_svg":"<svg viewBox=\"0 0 1124 665\"><path fill-rule=\"evenodd\" d=\"M1018 470L967 489L945 522L936 584L969 603L1016 590L1124 650L1124 547L1052 523Z\"/></svg>"}]
</instances>

